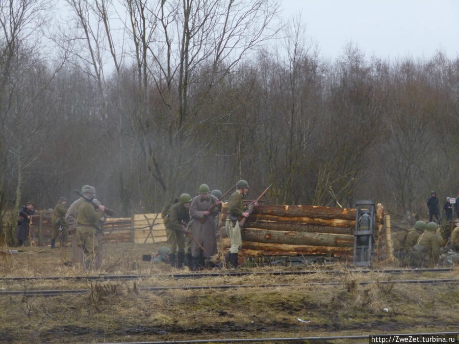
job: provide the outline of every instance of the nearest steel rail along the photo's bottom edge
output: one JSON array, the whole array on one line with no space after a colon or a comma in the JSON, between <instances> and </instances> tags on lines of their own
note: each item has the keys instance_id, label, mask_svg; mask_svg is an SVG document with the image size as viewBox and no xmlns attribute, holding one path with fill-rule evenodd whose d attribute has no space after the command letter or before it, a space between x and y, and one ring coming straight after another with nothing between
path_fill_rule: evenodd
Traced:
<instances>
[{"instance_id":1,"label":"nearest steel rail along the photo's bottom edge","mask_svg":"<svg viewBox=\"0 0 459 344\"><path fill-rule=\"evenodd\" d=\"M427 332L427 333L391 333L373 334L381 337L427 337L427 336L457 336L459 332ZM286 338L244 338L244 339L194 339L194 340L174 340L174 341L126 341L104 344L172 344L172 343L231 343L231 342L253 342L253 341L293 341L293 340L337 340L337 339L370 339L370 335L348 335L348 336L326 336L326 337L286 337ZM457 339L456 339L457 340ZM102 343L99 343L102 344Z\"/></svg>"}]
</instances>

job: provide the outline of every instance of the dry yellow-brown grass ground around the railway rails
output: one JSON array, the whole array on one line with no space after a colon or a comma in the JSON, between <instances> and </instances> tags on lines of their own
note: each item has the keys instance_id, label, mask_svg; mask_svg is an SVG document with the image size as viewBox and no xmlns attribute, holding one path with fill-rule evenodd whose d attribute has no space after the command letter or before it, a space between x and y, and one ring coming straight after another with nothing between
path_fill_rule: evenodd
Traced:
<instances>
[{"instance_id":1,"label":"dry yellow-brown grass ground around the railway rails","mask_svg":"<svg viewBox=\"0 0 459 344\"><path fill-rule=\"evenodd\" d=\"M143 262L142 255L160 244L106 244L100 274L147 274L129 281L2 281L2 290L78 289L85 295L57 297L0 296L1 342L132 342L225 338L275 338L383 333L457 331L457 284L374 283L365 280L459 278L449 273L317 273L306 276L248 275L173 279L180 273L166 264ZM71 250L28 247L0 255L0 277L82 276L69 264ZM396 268L396 267L386 267ZM264 267L244 271L292 270ZM301 269L350 267L312 265ZM353 268L352 268L353 269ZM341 281L342 285L309 286L308 282ZM145 292L144 286L297 283L290 287ZM388 311L385 311L387 308ZM300 322L300 320L308 322ZM350 342L350 341L333 341Z\"/></svg>"}]
</instances>

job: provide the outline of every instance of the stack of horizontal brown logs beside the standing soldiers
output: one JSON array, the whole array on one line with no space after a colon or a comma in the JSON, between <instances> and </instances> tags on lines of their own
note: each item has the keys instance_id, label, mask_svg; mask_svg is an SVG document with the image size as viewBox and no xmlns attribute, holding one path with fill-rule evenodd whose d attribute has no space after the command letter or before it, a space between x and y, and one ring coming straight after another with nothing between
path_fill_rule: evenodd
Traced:
<instances>
[{"instance_id":1,"label":"stack of horizontal brown logs beside the standing soldiers","mask_svg":"<svg viewBox=\"0 0 459 344\"><path fill-rule=\"evenodd\" d=\"M241 229L241 255L328 255L352 257L355 209L311 205L257 206ZM221 218L221 249L231 246ZM378 219L377 219L378 221Z\"/></svg>"}]
</instances>

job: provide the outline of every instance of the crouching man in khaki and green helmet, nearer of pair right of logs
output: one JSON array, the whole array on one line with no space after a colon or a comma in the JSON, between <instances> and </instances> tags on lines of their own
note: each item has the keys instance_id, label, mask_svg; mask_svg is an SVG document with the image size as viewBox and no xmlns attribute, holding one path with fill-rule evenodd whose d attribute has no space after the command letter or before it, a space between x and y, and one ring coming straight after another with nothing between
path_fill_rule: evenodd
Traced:
<instances>
[{"instance_id":1,"label":"crouching man in khaki and green helmet, nearer of pair right of logs","mask_svg":"<svg viewBox=\"0 0 459 344\"><path fill-rule=\"evenodd\" d=\"M419 236L416 245L414 245L409 254L405 256L404 263L414 267L433 268L440 257L440 239L435 232L437 224L429 222L424 233Z\"/></svg>"}]
</instances>

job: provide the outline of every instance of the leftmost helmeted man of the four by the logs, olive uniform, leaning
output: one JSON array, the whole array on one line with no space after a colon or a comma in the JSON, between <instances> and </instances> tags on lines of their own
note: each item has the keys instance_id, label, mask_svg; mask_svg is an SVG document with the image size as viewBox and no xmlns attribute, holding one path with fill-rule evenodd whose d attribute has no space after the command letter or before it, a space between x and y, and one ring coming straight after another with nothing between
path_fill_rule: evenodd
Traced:
<instances>
[{"instance_id":1,"label":"leftmost helmeted man of the four by the logs, olive uniform, leaning","mask_svg":"<svg viewBox=\"0 0 459 344\"><path fill-rule=\"evenodd\" d=\"M167 242L169 244L169 262L175 267L175 251L177 251L177 267L181 269L185 258L185 237L184 226L190 220L188 208L190 207L191 196L180 195L179 202L174 203L167 210L165 219Z\"/></svg>"}]
</instances>

